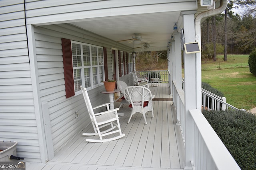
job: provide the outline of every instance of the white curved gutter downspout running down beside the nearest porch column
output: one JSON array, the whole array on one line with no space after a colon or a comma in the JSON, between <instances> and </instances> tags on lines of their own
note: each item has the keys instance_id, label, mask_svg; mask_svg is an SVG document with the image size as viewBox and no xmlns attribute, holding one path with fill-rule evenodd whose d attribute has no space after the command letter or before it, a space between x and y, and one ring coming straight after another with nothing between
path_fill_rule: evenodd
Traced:
<instances>
[{"instance_id":1,"label":"white curved gutter downspout running down beside the nearest porch column","mask_svg":"<svg viewBox=\"0 0 256 170\"><path fill-rule=\"evenodd\" d=\"M215 10L202 12L195 19L196 41L201 47L201 21L203 18L221 14L228 6L228 0L221 0L220 7ZM202 74L201 74L201 53L196 53L196 109L202 107Z\"/></svg>"}]
</instances>

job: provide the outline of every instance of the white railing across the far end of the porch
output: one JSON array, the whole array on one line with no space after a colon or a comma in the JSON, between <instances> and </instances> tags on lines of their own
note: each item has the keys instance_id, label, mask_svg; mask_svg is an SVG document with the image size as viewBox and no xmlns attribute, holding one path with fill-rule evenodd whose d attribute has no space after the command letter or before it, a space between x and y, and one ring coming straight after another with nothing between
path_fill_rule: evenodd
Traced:
<instances>
[{"instance_id":1,"label":"white railing across the far end of the porch","mask_svg":"<svg viewBox=\"0 0 256 170\"><path fill-rule=\"evenodd\" d=\"M151 78L159 78L159 82L168 83L169 82L169 72L168 70L146 70L146 71L136 71L140 73L141 76L148 76L148 82L151 83Z\"/></svg>"}]
</instances>

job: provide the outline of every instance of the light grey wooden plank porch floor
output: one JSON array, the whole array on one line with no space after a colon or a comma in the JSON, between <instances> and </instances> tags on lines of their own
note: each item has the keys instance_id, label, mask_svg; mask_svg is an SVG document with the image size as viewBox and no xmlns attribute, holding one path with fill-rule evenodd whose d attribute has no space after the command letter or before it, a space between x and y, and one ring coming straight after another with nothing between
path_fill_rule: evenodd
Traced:
<instances>
[{"instance_id":1,"label":"light grey wooden plank porch floor","mask_svg":"<svg viewBox=\"0 0 256 170\"><path fill-rule=\"evenodd\" d=\"M150 86L155 98L170 98L168 84ZM120 102L115 103L119 107ZM154 118L147 113L135 114L129 124L130 108L125 104L120 112L120 124L125 137L106 143L88 143L83 132L72 139L46 164L26 162L26 170L124 170L124 169L183 169L184 147L178 125L175 125L171 101L154 101ZM90 137L92 138L92 137ZM94 137L97 138L97 137Z\"/></svg>"}]
</instances>

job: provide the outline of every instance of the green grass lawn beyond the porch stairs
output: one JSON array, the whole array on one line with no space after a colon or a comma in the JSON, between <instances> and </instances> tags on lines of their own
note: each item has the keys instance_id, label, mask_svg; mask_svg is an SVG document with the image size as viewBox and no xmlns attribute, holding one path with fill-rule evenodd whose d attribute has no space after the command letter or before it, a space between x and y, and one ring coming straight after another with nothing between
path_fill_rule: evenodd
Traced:
<instances>
[{"instance_id":1,"label":"green grass lawn beyond the porch stairs","mask_svg":"<svg viewBox=\"0 0 256 170\"><path fill-rule=\"evenodd\" d=\"M227 103L246 110L256 107L256 76L249 71L249 55L223 55L218 61L202 61L202 82L221 91Z\"/></svg>"}]
</instances>

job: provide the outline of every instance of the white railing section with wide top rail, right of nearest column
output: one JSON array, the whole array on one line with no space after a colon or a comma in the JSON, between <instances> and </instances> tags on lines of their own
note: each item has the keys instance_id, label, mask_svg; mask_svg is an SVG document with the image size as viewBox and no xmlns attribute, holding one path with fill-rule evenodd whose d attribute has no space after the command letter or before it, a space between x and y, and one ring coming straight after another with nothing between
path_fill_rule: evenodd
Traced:
<instances>
[{"instance_id":1,"label":"white railing section with wide top rail, right of nearest column","mask_svg":"<svg viewBox=\"0 0 256 170\"><path fill-rule=\"evenodd\" d=\"M198 109L189 110L194 123L194 160L191 160L196 170L240 170L240 167L212 129L204 115Z\"/></svg>"}]
</instances>

